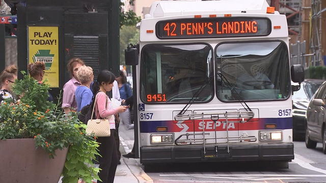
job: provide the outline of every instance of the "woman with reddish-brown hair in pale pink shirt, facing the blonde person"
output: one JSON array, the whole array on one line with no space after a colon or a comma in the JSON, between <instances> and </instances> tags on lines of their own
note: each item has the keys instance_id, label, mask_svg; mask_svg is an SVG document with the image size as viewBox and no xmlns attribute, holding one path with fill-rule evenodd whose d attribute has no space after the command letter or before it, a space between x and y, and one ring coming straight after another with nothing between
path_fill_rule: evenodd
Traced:
<instances>
[{"instance_id":1,"label":"woman with reddish-brown hair in pale pink shirt, facing the blonde person","mask_svg":"<svg viewBox=\"0 0 326 183\"><path fill-rule=\"evenodd\" d=\"M63 86L62 108L66 114L72 110L77 110L77 103L75 100L75 90L80 82L76 79L76 72L80 66L85 63L80 58L71 58L68 62L67 68L70 72L71 79Z\"/></svg>"}]
</instances>

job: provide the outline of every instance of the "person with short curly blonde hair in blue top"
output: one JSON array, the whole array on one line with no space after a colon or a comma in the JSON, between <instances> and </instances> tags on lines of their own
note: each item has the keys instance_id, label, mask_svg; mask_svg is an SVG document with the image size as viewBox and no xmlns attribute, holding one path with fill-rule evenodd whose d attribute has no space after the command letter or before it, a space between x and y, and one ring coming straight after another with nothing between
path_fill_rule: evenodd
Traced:
<instances>
[{"instance_id":1,"label":"person with short curly blonde hair in blue top","mask_svg":"<svg viewBox=\"0 0 326 183\"><path fill-rule=\"evenodd\" d=\"M80 66L76 72L76 77L81 83L75 90L77 111L80 111L92 102L93 93L90 89L90 84L94 79L93 69L88 66Z\"/></svg>"}]
</instances>

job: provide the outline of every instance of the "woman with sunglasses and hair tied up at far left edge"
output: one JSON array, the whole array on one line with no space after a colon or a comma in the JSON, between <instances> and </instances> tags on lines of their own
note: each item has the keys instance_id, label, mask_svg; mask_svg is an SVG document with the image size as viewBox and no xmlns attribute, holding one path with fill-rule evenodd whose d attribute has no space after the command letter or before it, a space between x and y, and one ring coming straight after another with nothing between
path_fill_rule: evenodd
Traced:
<instances>
[{"instance_id":1,"label":"woman with sunglasses and hair tied up at far left edge","mask_svg":"<svg viewBox=\"0 0 326 183\"><path fill-rule=\"evenodd\" d=\"M10 94L12 84L17 79L17 67L15 65L8 66L0 74L1 90L0 90L0 103L5 100L16 102L16 99Z\"/></svg>"}]
</instances>

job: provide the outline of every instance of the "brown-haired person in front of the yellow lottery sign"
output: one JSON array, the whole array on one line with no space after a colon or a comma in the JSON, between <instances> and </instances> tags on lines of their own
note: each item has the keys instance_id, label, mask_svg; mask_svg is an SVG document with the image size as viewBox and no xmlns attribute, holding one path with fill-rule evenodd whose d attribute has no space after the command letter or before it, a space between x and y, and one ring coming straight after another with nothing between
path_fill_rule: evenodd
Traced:
<instances>
[{"instance_id":1,"label":"brown-haired person in front of the yellow lottery sign","mask_svg":"<svg viewBox=\"0 0 326 183\"><path fill-rule=\"evenodd\" d=\"M29 71L31 77L33 77L35 80L37 80L40 84L43 81L44 77L44 70L45 70L45 64L43 62L35 62L35 63L30 63L27 66L27 70ZM53 97L50 93L48 93L48 99L47 101L53 102Z\"/></svg>"}]
</instances>

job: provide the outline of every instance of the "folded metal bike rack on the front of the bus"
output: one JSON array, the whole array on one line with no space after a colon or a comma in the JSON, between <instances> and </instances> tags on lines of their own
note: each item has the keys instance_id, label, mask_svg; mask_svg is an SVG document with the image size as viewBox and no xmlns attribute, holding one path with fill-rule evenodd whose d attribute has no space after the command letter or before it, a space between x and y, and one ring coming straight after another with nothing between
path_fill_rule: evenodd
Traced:
<instances>
[{"instance_id":1,"label":"folded metal bike rack on the front of the bus","mask_svg":"<svg viewBox=\"0 0 326 183\"><path fill-rule=\"evenodd\" d=\"M233 123L246 123L250 119L254 117L254 112L247 111L247 112L213 112L213 113L198 113L198 114L182 114L174 116L175 120L195 120L201 119L204 126L205 121L204 119L211 119L214 122L214 133L215 138L205 138L205 135L209 135L209 133L205 133L205 128L203 128L202 133L185 133L181 134L178 138L175 139L174 143L176 145L203 145L204 146L204 154L206 154L206 145L214 144L226 144L227 145L227 152L230 153L229 143L237 143L237 142L255 142L257 138L255 136L234 136L229 137L229 118L238 118L238 121L233 121ZM216 136L216 121L220 118L225 118L225 121L221 121L221 123L226 123L226 137L217 137ZM196 138L196 136L202 135L203 138ZM186 139L181 139L181 137L185 136ZM194 136L194 138L190 138L189 136ZM206 142L207 140L214 139L215 142ZM226 139L225 142L218 142L218 139ZM202 141L202 143L198 143L197 141ZM215 146L215 151L217 152L217 146Z\"/></svg>"}]
</instances>

